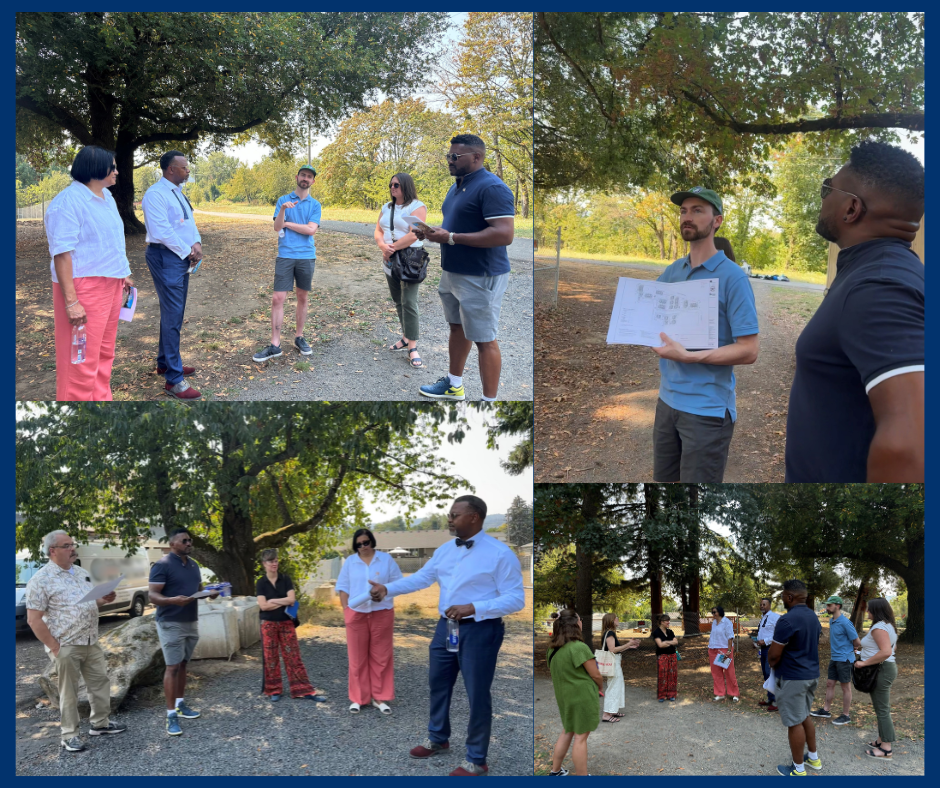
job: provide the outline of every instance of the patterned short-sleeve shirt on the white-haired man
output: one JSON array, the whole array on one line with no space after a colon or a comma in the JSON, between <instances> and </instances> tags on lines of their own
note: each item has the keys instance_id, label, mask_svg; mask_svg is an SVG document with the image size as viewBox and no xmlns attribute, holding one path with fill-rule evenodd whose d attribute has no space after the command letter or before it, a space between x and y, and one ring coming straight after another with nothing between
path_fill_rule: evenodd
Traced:
<instances>
[{"instance_id":1,"label":"patterned short-sleeve shirt on the white-haired man","mask_svg":"<svg viewBox=\"0 0 940 788\"><path fill-rule=\"evenodd\" d=\"M80 566L69 571L50 561L26 584L26 607L45 613L46 626L61 645L89 646L98 641L98 605L78 600L93 587Z\"/></svg>"}]
</instances>

